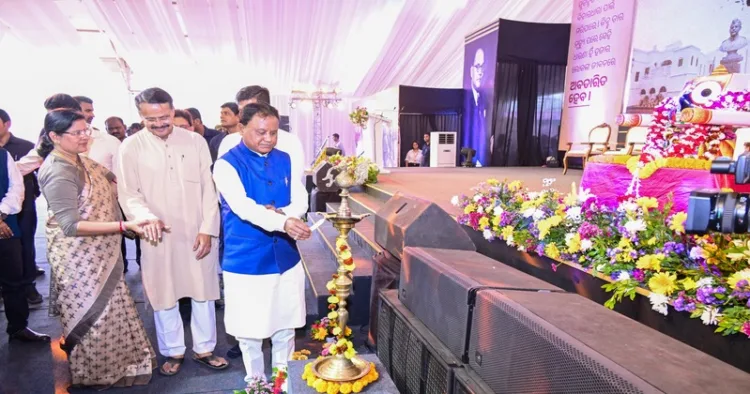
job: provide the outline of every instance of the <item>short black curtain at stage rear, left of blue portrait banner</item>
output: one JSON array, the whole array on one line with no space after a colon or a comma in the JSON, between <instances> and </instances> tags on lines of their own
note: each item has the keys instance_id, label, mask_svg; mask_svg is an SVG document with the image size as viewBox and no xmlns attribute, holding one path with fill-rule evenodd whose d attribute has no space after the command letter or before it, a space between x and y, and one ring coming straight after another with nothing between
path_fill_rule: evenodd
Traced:
<instances>
[{"instance_id":1,"label":"short black curtain at stage rear, left of blue portrait banner","mask_svg":"<svg viewBox=\"0 0 750 394\"><path fill-rule=\"evenodd\" d=\"M399 153L399 166L404 167L406 153L411 149L411 143L417 141L420 148L424 144L424 135L433 131L455 131L458 132L461 117L457 113L450 114L414 114L405 113L398 116L399 135L401 138L401 149Z\"/></svg>"}]
</instances>

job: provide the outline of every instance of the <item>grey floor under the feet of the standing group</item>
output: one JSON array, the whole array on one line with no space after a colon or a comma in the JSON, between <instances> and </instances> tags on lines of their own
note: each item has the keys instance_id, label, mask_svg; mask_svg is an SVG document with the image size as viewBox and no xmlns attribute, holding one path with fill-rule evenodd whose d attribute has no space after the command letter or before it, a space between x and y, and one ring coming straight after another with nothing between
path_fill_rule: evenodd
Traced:
<instances>
[{"instance_id":1,"label":"grey floor under the feet of the standing group","mask_svg":"<svg viewBox=\"0 0 750 394\"><path fill-rule=\"evenodd\" d=\"M44 202L38 202L38 210L43 214ZM94 393L92 389L70 388L70 375L64 352L59 349L58 340L61 336L60 323L57 318L49 317L47 313L49 294L49 265L45 257L45 242L43 236L44 217L40 217L40 228L37 233L37 262L40 267L47 271L45 276L37 280L37 289L45 297L44 303L38 309L31 311L29 327L52 336L51 344L23 344L18 342L9 343L5 335L5 315L0 313L0 394L16 393ZM135 299L136 306L140 312L151 343L156 348L156 333L154 328L153 309L148 305L141 285L140 270L135 264L135 245L128 241L129 272L126 280ZM0 257L2 258L2 257ZM185 327L189 327L189 311L182 310ZM224 333L224 313L217 310L218 344L216 354L224 356L226 351L232 347L232 338ZM355 330L355 343L362 344L365 335L361 334L359 327ZM190 334L186 329L186 343L188 353L190 352ZM317 355L320 352L320 343L309 339L307 330L297 331L297 350L308 349ZM366 348L357 346L360 353L367 353ZM266 343L264 347L266 363L270 363L270 347ZM158 355L159 363L164 358ZM244 388L243 378L245 376L242 359L230 360L230 367L224 371L212 371L202 367L195 362L186 361L179 374L173 377L159 375L153 371L153 378L147 386L131 388L112 388L108 393L231 393L235 389ZM270 370L270 367L268 367Z\"/></svg>"}]
</instances>

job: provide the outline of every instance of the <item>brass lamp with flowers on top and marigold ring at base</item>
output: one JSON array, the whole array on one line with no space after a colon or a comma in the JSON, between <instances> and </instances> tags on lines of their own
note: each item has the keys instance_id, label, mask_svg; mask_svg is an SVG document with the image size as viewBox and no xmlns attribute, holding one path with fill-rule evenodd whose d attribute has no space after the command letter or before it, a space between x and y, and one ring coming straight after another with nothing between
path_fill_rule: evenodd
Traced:
<instances>
[{"instance_id":1,"label":"brass lamp with flowers on top and marigold ring at base","mask_svg":"<svg viewBox=\"0 0 750 394\"><path fill-rule=\"evenodd\" d=\"M354 259L347 243L349 232L369 214L354 215L349 208L349 188L361 186L368 182L371 162L353 156L333 157L325 180L329 186L336 183L341 188L341 205L335 213L326 213L325 218L339 232L336 238L336 259L338 269L327 288L331 294L329 303L333 310L328 314L330 320L337 322L334 328L336 342L330 344L330 355L320 357L305 367L302 377L309 386L318 392L358 392L378 377L373 363L356 356L354 345L347 338L347 321L349 312L346 309L347 298L351 294L352 271ZM338 172L334 175L334 172ZM335 390L333 390L335 389ZM322 390L322 391L321 391Z\"/></svg>"}]
</instances>

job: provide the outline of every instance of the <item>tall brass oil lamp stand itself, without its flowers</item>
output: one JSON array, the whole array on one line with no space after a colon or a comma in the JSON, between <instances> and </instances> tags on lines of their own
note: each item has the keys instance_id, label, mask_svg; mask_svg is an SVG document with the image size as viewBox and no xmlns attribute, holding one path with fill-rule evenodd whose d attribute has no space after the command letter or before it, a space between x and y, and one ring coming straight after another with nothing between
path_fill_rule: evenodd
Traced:
<instances>
[{"instance_id":1,"label":"tall brass oil lamp stand itself, without its flowers","mask_svg":"<svg viewBox=\"0 0 750 394\"><path fill-rule=\"evenodd\" d=\"M335 177L336 184L341 188L341 205L335 213L326 213L326 220L333 224L333 227L339 232L337 237L338 244L347 244L349 232L362 219L369 214L352 215L349 208L349 188L360 186L364 182L354 178L347 171L342 171ZM336 259L338 260L337 277L334 279L336 297L338 297L338 327L343 332L346 329L346 323L349 320L349 311L346 310L346 299L351 294L352 279L350 270L347 269L345 260L341 257L340 250L336 250ZM351 262L350 262L351 264ZM332 344L331 346L335 346ZM358 358L356 355L347 358L344 353L337 353L320 358L313 362L312 373L328 382L353 382L363 378L370 372L371 363Z\"/></svg>"}]
</instances>

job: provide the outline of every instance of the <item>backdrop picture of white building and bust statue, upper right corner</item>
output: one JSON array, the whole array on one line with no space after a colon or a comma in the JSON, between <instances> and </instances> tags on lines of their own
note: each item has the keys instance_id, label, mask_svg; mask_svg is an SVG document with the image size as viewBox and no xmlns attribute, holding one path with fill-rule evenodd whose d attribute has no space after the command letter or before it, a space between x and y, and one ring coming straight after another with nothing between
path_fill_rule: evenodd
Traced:
<instances>
[{"instance_id":1,"label":"backdrop picture of white building and bust statue, upper right corner","mask_svg":"<svg viewBox=\"0 0 750 394\"><path fill-rule=\"evenodd\" d=\"M719 66L730 74L750 73L750 46L742 35L750 8L705 0L639 1L637 7L623 112L651 113L688 81ZM679 17L663 17L675 10Z\"/></svg>"}]
</instances>

